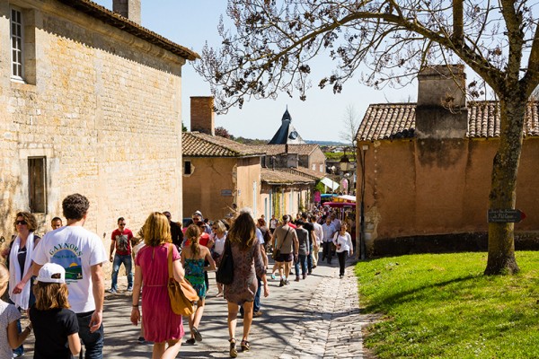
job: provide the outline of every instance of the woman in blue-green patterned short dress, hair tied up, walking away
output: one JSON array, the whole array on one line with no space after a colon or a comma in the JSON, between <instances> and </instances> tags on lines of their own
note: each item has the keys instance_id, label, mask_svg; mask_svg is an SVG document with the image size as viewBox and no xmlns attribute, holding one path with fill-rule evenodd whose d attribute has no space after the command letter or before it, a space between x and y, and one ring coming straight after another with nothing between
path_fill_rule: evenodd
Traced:
<instances>
[{"instance_id":1,"label":"woman in blue-green patterned short dress, hair tied up, walking away","mask_svg":"<svg viewBox=\"0 0 539 359\"><path fill-rule=\"evenodd\" d=\"M208 248L201 246L199 226L191 224L185 232L187 237L186 242L189 245L181 251L181 264L185 268L185 279L195 288L199 294L199 302L197 302L197 310L189 317L190 339L186 344L195 344L195 341L202 341L202 335L199 332L200 320L204 314L204 302L206 299L206 291L208 287L204 280L204 271L215 270L216 262L211 257ZM208 260L209 266L204 266L204 261Z\"/></svg>"}]
</instances>

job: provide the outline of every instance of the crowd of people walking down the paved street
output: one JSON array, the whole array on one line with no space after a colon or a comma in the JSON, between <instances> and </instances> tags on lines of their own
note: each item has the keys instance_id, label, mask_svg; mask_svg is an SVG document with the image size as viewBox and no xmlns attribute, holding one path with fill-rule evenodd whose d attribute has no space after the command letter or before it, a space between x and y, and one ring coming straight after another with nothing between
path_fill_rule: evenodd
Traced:
<instances>
[{"instance_id":1,"label":"crowd of people walking down the paved street","mask_svg":"<svg viewBox=\"0 0 539 359\"><path fill-rule=\"evenodd\" d=\"M320 262L331 265L334 255L339 258L340 277L344 276L346 256L353 254L354 247L347 231L353 223L341 221L329 208L297 214L294 220L291 215L272 215L269 221L263 215L254 219L247 208L215 221L196 211L186 228L165 211L150 214L136 235L127 228L125 218L119 217L107 257L102 240L84 228L88 199L80 194L67 196L62 209L66 225L55 217L53 230L43 238L34 234L37 222L33 215L15 215L17 234L2 253L5 266L0 264L0 294L7 293L6 302L0 302L2 358L21 356L22 343L32 328L35 357L71 358L83 350L82 342L86 358L102 358L103 265L107 258L112 263L107 292L119 292L119 267L125 267L127 291L132 293L130 320L141 325L138 341L153 343L152 358L176 357L185 333L183 318L171 308L169 276L178 282L187 280L199 295L195 310L187 317L190 333L184 341L195 345L203 340L199 328L210 285L208 271L220 266L226 246L234 261L234 280L229 285L216 282L215 297L226 301L229 355L236 357L238 351L251 349L252 320L263 315L262 293L270 295L269 256L275 261L270 277L282 287L290 284L292 268L295 281L305 280ZM24 312L31 324L22 330ZM239 345L238 315L243 317Z\"/></svg>"}]
</instances>

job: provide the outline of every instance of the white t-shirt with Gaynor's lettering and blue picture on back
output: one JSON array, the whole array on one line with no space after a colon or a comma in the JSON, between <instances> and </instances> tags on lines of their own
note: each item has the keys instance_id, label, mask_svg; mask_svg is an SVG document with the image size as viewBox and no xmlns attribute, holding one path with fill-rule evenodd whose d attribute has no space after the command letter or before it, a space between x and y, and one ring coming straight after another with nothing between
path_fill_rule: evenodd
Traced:
<instances>
[{"instance_id":1,"label":"white t-shirt with Gaynor's lettering and blue picture on back","mask_svg":"<svg viewBox=\"0 0 539 359\"><path fill-rule=\"evenodd\" d=\"M48 232L33 251L32 260L40 266L51 262L64 267L71 310L95 311L90 267L108 260L97 234L73 225Z\"/></svg>"}]
</instances>

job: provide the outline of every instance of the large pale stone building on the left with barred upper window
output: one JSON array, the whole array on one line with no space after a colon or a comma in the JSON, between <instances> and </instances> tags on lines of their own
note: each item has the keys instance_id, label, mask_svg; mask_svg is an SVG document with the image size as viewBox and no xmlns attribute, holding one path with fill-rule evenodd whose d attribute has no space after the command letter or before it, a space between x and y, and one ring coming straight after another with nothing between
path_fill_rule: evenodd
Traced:
<instances>
[{"instance_id":1,"label":"large pale stone building on the left with barred upper window","mask_svg":"<svg viewBox=\"0 0 539 359\"><path fill-rule=\"evenodd\" d=\"M198 55L140 26L140 0L0 3L0 228L90 199L107 239L119 216L181 216L181 67Z\"/></svg>"}]
</instances>

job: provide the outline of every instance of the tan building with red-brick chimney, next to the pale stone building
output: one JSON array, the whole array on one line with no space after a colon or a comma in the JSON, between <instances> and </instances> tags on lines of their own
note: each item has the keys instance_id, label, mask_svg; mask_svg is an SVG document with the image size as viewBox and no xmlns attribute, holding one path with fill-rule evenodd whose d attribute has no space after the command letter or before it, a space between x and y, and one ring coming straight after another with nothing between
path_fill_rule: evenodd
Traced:
<instances>
[{"instance_id":1,"label":"tan building with red-brick chimney, next to the pale stone building","mask_svg":"<svg viewBox=\"0 0 539 359\"><path fill-rule=\"evenodd\" d=\"M191 97L191 129L182 134L183 213L200 210L209 219L225 218L245 206L257 215L261 190L261 152L215 136L213 97Z\"/></svg>"}]
</instances>

